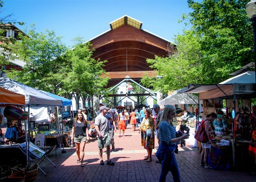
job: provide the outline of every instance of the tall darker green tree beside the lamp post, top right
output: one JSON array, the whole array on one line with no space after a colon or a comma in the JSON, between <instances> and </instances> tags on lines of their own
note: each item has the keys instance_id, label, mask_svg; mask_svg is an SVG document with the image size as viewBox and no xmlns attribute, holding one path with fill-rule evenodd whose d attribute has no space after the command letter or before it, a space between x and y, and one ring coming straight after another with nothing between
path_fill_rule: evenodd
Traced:
<instances>
[{"instance_id":1,"label":"tall darker green tree beside the lamp post, top right","mask_svg":"<svg viewBox=\"0 0 256 182\"><path fill-rule=\"evenodd\" d=\"M203 83L219 83L253 60L248 0L188 0L187 19L203 51ZM186 18L185 18L186 19ZM184 20L185 20L184 19Z\"/></svg>"}]
</instances>

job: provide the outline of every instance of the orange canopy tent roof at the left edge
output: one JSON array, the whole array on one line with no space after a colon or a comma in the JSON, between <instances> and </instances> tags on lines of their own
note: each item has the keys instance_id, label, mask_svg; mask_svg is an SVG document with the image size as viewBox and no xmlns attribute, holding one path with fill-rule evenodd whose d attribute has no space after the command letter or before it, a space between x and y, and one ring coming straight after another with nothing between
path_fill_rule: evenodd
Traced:
<instances>
[{"instance_id":1,"label":"orange canopy tent roof at the left edge","mask_svg":"<svg viewBox=\"0 0 256 182\"><path fill-rule=\"evenodd\" d=\"M0 87L0 104L26 105L25 96Z\"/></svg>"}]
</instances>

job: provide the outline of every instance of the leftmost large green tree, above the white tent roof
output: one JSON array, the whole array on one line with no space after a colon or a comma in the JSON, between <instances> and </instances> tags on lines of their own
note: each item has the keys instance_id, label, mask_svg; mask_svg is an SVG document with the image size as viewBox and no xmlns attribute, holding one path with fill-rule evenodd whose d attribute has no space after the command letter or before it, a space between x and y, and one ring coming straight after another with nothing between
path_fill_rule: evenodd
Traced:
<instances>
[{"instance_id":1,"label":"leftmost large green tree, above the white tent roof","mask_svg":"<svg viewBox=\"0 0 256 182\"><path fill-rule=\"evenodd\" d=\"M60 81L59 68L63 62L59 60L66 47L54 31L46 30L37 33L35 25L27 31L27 35L19 34L20 41L14 45L13 52L26 63L23 70L12 70L10 77L17 77L28 86L58 94Z\"/></svg>"}]
</instances>

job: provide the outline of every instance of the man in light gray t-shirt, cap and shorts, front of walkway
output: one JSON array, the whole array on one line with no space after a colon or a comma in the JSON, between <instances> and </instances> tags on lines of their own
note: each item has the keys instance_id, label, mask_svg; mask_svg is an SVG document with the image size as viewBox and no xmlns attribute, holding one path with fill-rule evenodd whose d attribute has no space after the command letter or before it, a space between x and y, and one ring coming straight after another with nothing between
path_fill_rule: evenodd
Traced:
<instances>
[{"instance_id":1,"label":"man in light gray t-shirt, cap and shorts, front of walkway","mask_svg":"<svg viewBox=\"0 0 256 182\"><path fill-rule=\"evenodd\" d=\"M108 120L104 116L107 114L107 108L106 106L100 107L100 114L95 118L95 129L97 131L98 135L98 147L99 147L99 154L101 165L104 165L103 157L102 157L102 149L106 146L107 147L107 164L108 165L114 165L115 162L112 162L110 160L110 141L111 137L109 134L109 128L108 128Z\"/></svg>"}]
</instances>

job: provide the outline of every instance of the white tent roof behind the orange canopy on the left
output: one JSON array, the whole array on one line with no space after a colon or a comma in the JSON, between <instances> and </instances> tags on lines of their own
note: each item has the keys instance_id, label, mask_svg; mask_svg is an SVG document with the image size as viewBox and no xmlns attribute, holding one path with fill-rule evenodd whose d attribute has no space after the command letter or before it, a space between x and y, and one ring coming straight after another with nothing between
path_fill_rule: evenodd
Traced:
<instances>
[{"instance_id":1,"label":"white tent roof behind the orange canopy on the left","mask_svg":"<svg viewBox=\"0 0 256 182\"><path fill-rule=\"evenodd\" d=\"M62 101L10 78L0 78L0 87L25 96L29 106L62 106Z\"/></svg>"}]
</instances>

